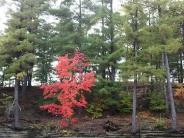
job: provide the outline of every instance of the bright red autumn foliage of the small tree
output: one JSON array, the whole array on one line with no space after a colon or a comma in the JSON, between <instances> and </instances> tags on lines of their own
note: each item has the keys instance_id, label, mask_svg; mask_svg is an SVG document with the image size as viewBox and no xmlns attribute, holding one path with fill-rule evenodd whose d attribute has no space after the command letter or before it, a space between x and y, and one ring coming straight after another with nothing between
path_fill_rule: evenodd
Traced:
<instances>
[{"instance_id":1,"label":"bright red autumn foliage of the small tree","mask_svg":"<svg viewBox=\"0 0 184 138\"><path fill-rule=\"evenodd\" d=\"M71 58L68 55L61 56L56 66L60 82L41 86L44 99L57 97L58 103L45 104L40 108L62 116L60 125L63 127L68 126L69 121L77 122L73 117L75 107L87 105L84 93L90 92L96 81L94 72L87 72L87 67L89 67L89 61L83 53L76 52Z\"/></svg>"}]
</instances>

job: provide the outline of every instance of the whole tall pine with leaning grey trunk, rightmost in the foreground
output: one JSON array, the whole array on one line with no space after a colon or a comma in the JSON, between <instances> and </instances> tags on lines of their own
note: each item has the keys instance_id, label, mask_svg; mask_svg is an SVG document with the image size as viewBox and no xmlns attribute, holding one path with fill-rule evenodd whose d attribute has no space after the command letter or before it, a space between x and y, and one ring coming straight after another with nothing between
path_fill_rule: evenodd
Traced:
<instances>
[{"instance_id":1,"label":"whole tall pine with leaning grey trunk, rightmost in the foreground","mask_svg":"<svg viewBox=\"0 0 184 138\"><path fill-rule=\"evenodd\" d=\"M176 130L176 109L175 109L175 103L174 103L174 96L172 91L172 84L170 82L171 73L170 73L170 67L169 67L169 60L168 60L168 53L169 52L175 52L178 51L180 44L178 39L174 38L173 29L170 26L173 26L174 24L170 24L169 22L169 15L167 14L167 11L169 9L167 8L167 5L169 5L169 0L164 0L161 2L158 2L158 29L159 29L159 35L160 39L158 42L158 45L162 48L162 57L163 57L163 63L166 70L166 80L167 80L167 95L169 97L170 102L170 109L171 109L171 124L172 129ZM175 27L175 26L173 26ZM174 42L174 43L173 43Z\"/></svg>"}]
</instances>

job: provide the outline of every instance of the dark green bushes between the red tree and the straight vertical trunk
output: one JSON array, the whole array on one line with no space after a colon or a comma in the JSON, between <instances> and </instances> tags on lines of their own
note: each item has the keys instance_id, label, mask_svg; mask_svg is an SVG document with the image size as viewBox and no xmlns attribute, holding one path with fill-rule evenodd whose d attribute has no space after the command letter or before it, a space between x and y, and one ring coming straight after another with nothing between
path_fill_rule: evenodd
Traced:
<instances>
[{"instance_id":1,"label":"dark green bushes between the red tree and the straight vertical trunk","mask_svg":"<svg viewBox=\"0 0 184 138\"><path fill-rule=\"evenodd\" d=\"M131 97L131 93L123 91L122 83L99 79L92 93L88 95L90 106L87 112L94 116L101 116L103 112L130 113L132 111Z\"/></svg>"}]
</instances>

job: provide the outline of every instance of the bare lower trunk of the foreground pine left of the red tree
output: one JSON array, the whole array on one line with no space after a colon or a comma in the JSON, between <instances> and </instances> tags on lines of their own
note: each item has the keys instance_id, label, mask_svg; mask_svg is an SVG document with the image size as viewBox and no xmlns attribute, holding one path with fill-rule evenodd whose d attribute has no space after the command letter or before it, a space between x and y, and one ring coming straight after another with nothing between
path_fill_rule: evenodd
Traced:
<instances>
[{"instance_id":1,"label":"bare lower trunk of the foreground pine left of the red tree","mask_svg":"<svg viewBox=\"0 0 184 138\"><path fill-rule=\"evenodd\" d=\"M19 92L18 92L18 80L15 79L14 86L14 128L19 129L20 125L20 106L19 106Z\"/></svg>"}]
</instances>

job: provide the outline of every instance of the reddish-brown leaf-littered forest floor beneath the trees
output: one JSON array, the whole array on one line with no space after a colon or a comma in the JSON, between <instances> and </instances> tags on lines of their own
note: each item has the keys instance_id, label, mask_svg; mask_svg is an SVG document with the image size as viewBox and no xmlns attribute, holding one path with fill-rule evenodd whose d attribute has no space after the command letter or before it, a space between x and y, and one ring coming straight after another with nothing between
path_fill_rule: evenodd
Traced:
<instances>
[{"instance_id":1,"label":"reddish-brown leaf-littered forest floor beneath the trees","mask_svg":"<svg viewBox=\"0 0 184 138\"><path fill-rule=\"evenodd\" d=\"M13 89L5 90L12 94L11 91ZM49 114L46 114L43 111L40 111L39 106L37 104L37 100L40 100L42 93L38 88L32 88L28 90L25 96L20 100L21 104L21 122L25 127L33 127L33 128L44 128L49 131L50 127L55 125L59 118L52 117ZM70 135L69 133L78 133L81 135L95 135L95 136L103 136L108 131L106 127L108 123L112 125L112 127L117 127L118 133L130 132L131 128L131 115L128 114L118 114L118 115L105 115L102 118L92 119L91 117L83 114L78 115L78 123L73 124L70 127L70 131L66 131L68 133L66 135ZM159 129L169 129L170 127L170 119L164 117L162 114L152 114L150 112L139 112L137 115L138 120L138 128L142 130L159 130ZM1 115L0 122L7 123L7 119ZM184 129L184 113L177 114L177 123L178 128ZM110 128L111 129L111 128Z\"/></svg>"}]
</instances>

